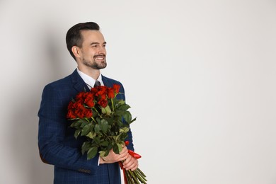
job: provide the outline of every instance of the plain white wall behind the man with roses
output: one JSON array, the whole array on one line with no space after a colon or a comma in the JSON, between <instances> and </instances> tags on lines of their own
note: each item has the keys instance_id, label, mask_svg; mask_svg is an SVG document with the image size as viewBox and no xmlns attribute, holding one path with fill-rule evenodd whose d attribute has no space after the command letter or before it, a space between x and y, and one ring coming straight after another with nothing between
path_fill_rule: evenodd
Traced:
<instances>
[{"instance_id":1,"label":"plain white wall behind the man with roses","mask_svg":"<svg viewBox=\"0 0 276 184\"><path fill-rule=\"evenodd\" d=\"M52 183L38 154L42 88L95 21L125 86L149 184L276 183L276 1L1 0L0 183Z\"/></svg>"}]
</instances>

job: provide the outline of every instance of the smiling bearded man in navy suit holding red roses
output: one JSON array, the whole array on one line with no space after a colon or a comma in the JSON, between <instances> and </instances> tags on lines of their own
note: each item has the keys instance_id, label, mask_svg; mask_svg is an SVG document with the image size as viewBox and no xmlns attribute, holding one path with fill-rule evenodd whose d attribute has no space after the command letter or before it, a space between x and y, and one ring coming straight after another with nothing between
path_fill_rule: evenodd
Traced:
<instances>
[{"instance_id":1,"label":"smiling bearded man in navy suit holding red roses","mask_svg":"<svg viewBox=\"0 0 276 184\"><path fill-rule=\"evenodd\" d=\"M67 49L76 60L77 68L69 76L45 86L38 112L38 146L43 162L54 165L54 184L120 183L118 161L124 161L124 168L134 171L137 159L128 154L133 150L132 132L128 132L130 144L120 154L110 151L104 158L99 155L91 160L81 154L84 139L74 138L74 130L66 119L67 105L77 93L88 91L94 84L103 86L120 84L118 98L125 100L124 88L119 81L100 74L107 65L105 39L97 23L79 23L70 28L66 36Z\"/></svg>"}]
</instances>

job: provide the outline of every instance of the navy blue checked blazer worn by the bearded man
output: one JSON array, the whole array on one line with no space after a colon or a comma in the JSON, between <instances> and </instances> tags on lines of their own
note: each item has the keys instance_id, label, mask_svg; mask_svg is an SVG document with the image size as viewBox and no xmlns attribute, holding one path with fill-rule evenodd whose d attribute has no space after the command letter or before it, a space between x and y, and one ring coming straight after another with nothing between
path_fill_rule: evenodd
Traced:
<instances>
[{"instance_id":1,"label":"navy blue checked blazer worn by the bearded man","mask_svg":"<svg viewBox=\"0 0 276 184\"><path fill-rule=\"evenodd\" d=\"M125 100L125 91L119 81L102 77L105 86L120 84L117 98ZM67 105L76 94L89 91L84 80L75 70L71 75L45 86L38 112L38 147L43 162L54 165L54 184L120 184L118 163L98 166L98 155L87 160L81 154L83 138L74 138L74 129L66 118ZM128 132L128 149L134 149L132 132Z\"/></svg>"}]
</instances>

